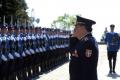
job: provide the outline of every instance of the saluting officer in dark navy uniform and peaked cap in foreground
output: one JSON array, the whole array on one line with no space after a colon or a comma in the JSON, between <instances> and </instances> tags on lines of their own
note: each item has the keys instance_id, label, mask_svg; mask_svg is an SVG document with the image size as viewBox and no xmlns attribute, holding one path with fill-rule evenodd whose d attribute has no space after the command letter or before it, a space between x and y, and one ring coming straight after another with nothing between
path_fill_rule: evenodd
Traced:
<instances>
[{"instance_id":1,"label":"saluting officer in dark navy uniform and peaked cap in foreground","mask_svg":"<svg viewBox=\"0 0 120 80\"><path fill-rule=\"evenodd\" d=\"M77 16L72 35L76 42L70 44L70 80L98 80L98 45L91 34L93 24L95 21Z\"/></svg>"}]
</instances>

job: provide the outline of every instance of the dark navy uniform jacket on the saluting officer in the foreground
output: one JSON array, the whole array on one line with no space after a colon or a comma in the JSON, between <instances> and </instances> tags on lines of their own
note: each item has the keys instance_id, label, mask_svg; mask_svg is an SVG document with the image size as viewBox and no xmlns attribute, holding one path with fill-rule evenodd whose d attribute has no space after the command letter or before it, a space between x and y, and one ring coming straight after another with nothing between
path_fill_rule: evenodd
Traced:
<instances>
[{"instance_id":1,"label":"dark navy uniform jacket on the saluting officer in the foreground","mask_svg":"<svg viewBox=\"0 0 120 80\"><path fill-rule=\"evenodd\" d=\"M70 40L70 80L98 80L98 45L94 37L92 37L92 34L87 34L80 40L74 40ZM86 57L87 49L92 50L90 57ZM72 56L75 50L77 51L78 57Z\"/></svg>"}]
</instances>

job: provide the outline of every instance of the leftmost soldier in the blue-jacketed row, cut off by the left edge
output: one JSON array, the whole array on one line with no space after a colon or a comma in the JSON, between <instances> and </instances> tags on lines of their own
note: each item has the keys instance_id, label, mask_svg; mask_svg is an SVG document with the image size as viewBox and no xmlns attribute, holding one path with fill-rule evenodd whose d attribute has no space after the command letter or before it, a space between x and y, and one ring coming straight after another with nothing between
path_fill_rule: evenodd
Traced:
<instances>
[{"instance_id":1,"label":"leftmost soldier in the blue-jacketed row, cut off by the left edge","mask_svg":"<svg viewBox=\"0 0 120 80\"><path fill-rule=\"evenodd\" d=\"M5 39L4 32L5 26L0 26L0 80L8 79L8 58L4 54L5 52Z\"/></svg>"}]
</instances>

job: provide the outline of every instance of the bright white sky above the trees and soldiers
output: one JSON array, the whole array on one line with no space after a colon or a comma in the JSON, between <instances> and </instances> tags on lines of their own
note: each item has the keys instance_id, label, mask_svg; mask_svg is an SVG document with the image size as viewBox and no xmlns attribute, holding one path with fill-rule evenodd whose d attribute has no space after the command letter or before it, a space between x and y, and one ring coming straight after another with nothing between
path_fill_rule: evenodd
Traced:
<instances>
[{"instance_id":1,"label":"bright white sky above the trees and soldiers","mask_svg":"<svg viewBox=\"0 0 120 80\"><path fill-rule=\"evenodd\" d=\"M41 27L50 27L53 20L67 13L96 21L93 35L97 41L100 41L105 27L109 31L110 24L115 24L115 31L120 33L119 0L26 0L26 3L29 16L40 18Z\"/></svg>"}]
</instances>

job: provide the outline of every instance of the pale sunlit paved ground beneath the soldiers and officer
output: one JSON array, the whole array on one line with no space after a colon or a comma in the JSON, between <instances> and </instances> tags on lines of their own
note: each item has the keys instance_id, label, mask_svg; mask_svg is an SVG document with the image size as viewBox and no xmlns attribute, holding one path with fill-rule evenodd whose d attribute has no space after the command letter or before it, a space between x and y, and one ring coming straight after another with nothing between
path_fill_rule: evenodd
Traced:
<instances>
[{"instance_id":1,"label":"pale sunlit paved ground beneath the soldiers and officer","mask_svg":"<svg viewBox=\"0 0 120 80\"><path fill-rule=\"evenodd\" d=\"M109 66L106 55L106 46L99 46L99 62L98 62L98 79L99 80L120 80L120 51L118 52L116 72L117 74L109 75ZM34 80L69 80L69 63L65 63L59 68L47 74L40 75Z\"/></svg>"}]
</instances>

